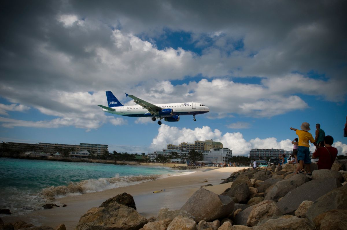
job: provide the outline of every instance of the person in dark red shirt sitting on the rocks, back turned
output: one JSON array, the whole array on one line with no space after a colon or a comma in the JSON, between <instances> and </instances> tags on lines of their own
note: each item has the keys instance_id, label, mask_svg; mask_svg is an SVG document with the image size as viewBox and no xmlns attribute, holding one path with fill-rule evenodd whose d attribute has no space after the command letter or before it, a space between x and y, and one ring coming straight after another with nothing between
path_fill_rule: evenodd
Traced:
<instances>
[{"instance_id":1,"label":"person in dark red shirt sitting on the rocks, back turned","mask_svg":"<svg viewBox=\"0 0 347 230\"><path fill-rule=\"evenodd\" d=\"M319 158L317 165L318 169L331 169L332 164L337 156L337 149L332 147L334 139L332 136L324 137L324 147L320 147L312 155L312 159Z\"/></svg>"}]
</instances>

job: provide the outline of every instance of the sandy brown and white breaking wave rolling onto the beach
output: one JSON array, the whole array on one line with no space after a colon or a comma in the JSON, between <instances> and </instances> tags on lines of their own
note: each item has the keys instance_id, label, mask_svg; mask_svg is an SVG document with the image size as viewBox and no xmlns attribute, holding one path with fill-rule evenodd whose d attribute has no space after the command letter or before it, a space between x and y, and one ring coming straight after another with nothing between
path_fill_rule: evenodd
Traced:
<instances>
[{"instance_id":1,"label":"sandy brown and white breaking wave rolling onto the beach","mask_svg":"<svg viewBox=\"0 0 347 230\"><path fill-rule=\"evenodd\" d=\"M168 175L170 176L170 175ZM53 201L70 195L79 195L83 193L101 192L111 188L126 187L129 185L140 184L152 180L158 180L166 176L163 175L146 175L146 176L119 176L112 178L99 178L82 180L81 182L70 182L69 185L51 186L42 189L40 196L47 200Z\"/></svg>"}]
</instances>

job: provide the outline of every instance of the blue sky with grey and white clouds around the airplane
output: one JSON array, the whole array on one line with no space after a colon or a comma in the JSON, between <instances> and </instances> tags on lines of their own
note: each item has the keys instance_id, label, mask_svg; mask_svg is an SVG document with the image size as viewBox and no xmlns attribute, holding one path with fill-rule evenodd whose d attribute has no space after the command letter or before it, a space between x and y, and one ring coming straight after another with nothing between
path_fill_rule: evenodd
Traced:
<instances>
[{"instance_id":1,"label":"blue sky with grey and white clouds around the airplane","mask_svg":"<svg viewBox=\"0 0 347 230\"><path fill-rule=\"evenodd\" d=\"M346 1L2 1L0 141L142 153L212 139L291 150L320 123L347 152ZM210 112L159 126L102 112L105 91ZM313 145L311 150L314 150Z\"/></svg>"}]
</instances>

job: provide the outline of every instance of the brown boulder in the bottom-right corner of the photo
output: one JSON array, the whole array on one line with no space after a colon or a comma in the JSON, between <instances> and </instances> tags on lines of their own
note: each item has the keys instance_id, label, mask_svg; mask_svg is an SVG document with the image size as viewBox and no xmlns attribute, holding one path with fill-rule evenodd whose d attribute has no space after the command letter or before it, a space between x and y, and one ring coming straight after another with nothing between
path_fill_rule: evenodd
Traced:
<instances>
[{"instance_id":1,"label":"brown boulder in the bottom-right corner of the photo","mask_svg":"<svg viewBox=\"0 0 347 230\"><path fill-rule=\"evenodd\" d=\"M314 224L320 230L347 229L347 210L333 209L314 218Z\"/></svg>"}]
</instances>

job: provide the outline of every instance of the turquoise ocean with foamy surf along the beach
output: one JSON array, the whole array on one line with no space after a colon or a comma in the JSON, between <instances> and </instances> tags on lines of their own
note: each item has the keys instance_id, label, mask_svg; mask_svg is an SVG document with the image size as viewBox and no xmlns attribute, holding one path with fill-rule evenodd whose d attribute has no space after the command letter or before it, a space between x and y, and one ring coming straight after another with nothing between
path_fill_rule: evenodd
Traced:
<instances>
[{"instance_id":1,"label":"turquoise ocean with foamy surf along the beach","mask_svg":"<svg viewBox=\"0 0 347 230\"><path fill-rule=\"evenodd\" d=\"M23 215L46 203L61 205L56 198L190 173L160 166L0 158L0 209Z\"/></svg>"}]
</instances>

